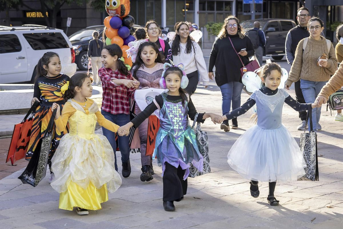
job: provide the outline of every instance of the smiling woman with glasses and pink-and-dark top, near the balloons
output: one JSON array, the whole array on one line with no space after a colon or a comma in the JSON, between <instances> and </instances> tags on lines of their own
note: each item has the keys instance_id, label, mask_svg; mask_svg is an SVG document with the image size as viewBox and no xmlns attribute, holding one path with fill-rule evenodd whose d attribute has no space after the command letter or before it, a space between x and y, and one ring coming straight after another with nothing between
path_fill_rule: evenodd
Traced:
<instances>
[{"instance_id":1,"label":"smiling woman with glasses and pink-and-dark top, near the balloons","mask_svg":"<svg viewBox=\"0 0 343 229\"><path fill-rule=\"evenodd\" d=\"M171 55L171 48L168 42L164 39L158 38L158 35L162 32L162 30L158 26L157 22L152 20L147 21L145 24L145 28L149 37L146 40L155 42L155 44L158 46L159 52L164 56L166 62L169 62L169 59L173 60L173 56Z\"/></svg>"}]
</instances>

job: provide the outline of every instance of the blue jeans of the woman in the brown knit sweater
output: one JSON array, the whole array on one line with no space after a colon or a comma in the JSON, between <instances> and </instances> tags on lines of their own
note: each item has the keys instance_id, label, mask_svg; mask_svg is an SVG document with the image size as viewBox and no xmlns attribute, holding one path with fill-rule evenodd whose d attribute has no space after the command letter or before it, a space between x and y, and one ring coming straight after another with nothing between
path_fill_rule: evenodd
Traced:
<instances>
[{"instance_id":1,"label":"blue jeans of the woman in the brown knit sweater","mask_svg":"<svg viewBox=\"0 0 343 229\"><path fill-rule=\"evenodd\" d=\"M320 90L324 87L324 85L327 82L328 81L315 82L315 81L300 79L300 88L301 88L301 91L303 92L305 102L314 103ZM320 112L321 112L321 107L312 109L312 125L313 125L314 131L317 130L317 125L320 119ZM308 126L310 125L310 121L308 121L307 125Z\"/></svg>"}]
</instances>

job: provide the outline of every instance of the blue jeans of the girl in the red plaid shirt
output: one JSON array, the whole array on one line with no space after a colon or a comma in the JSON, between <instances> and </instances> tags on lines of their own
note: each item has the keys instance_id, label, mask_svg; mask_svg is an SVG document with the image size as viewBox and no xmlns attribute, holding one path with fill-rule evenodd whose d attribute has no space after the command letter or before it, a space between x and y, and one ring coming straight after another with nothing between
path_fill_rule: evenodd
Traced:
<instances>
[{"instance_id":1,"label":"blue jeans of the girl in the red plaid shirt","mask_svg":"<svg viewBox=\"0 0 343 229\"><path fill-rule=\"evenodd\" d=\"M106 111L101 111L101 113L104 115L106 119L109 121L117 124L118 126L123 126L127 123L130 122L130 115L127 114L111 114L110 112ZM116 136L115 133L106 129L105 127L103 128L103 134L106 136L107 140L111 144L113 151L114 151L114 167L116 171L118 172L118 165L117 165L117 156L116 156L116 149L117 149L117 144L116 144ZM127 162L130 160L130 146L129 146L129 136L119 136L118 135L118 144L119 144L119 149L121 153L121 162Z\"/></svg>"}]
</instances>

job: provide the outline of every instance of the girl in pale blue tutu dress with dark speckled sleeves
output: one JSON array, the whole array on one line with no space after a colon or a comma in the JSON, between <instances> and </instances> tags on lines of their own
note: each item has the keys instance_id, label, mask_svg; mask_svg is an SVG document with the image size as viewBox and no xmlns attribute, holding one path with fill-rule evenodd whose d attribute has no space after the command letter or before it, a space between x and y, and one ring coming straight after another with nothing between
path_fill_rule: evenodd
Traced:
<instances>
[{"instance_id":1,"label":"girl in pale blue tutu dress with dark speckled sleeves","mask_svg":"<svg viewBox=\"0 0 343 229\"><path fill-rule=\"evenodd\" d=\"M263 66L260 77L265 84L251 94L241 107L223 116L233 119L257 106L257 125L241 135L230 149L227 162L241 176L250 181L251 196L260 194L258 181L269 182L268 203L278 205L274 197L276 180L293 181L305 174L306 163L297 142L281 123L284 102L296 111L305 111L314 104L298 103L285 90L277 87L281 82L281 68L277 63Z\"/></svg>"}]
</instances>

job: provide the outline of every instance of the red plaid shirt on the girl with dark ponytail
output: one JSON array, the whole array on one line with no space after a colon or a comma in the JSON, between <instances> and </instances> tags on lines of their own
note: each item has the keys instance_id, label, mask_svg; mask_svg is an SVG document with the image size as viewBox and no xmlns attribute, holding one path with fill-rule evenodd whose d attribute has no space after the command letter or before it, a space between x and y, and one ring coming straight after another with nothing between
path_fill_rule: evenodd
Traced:
<instances>
[{"instance_id":1,"label":"red plaid shirt on the girl with dark ponytail","mask_svg":"<svg viewBox=\"0 0 343 229\"><path fill-rule=\"evenodd\" d=\"M111 114L130 114L130 101L133 98L134 88L127 88L124 85L117 85L112 79L133 80L131 73L127 76L118 70L113 71L110 68L100 68L98 75L103 84L103 102L101 110ZM111 79L112 78L112 79Z\"/></svg>"}]
</instances>

